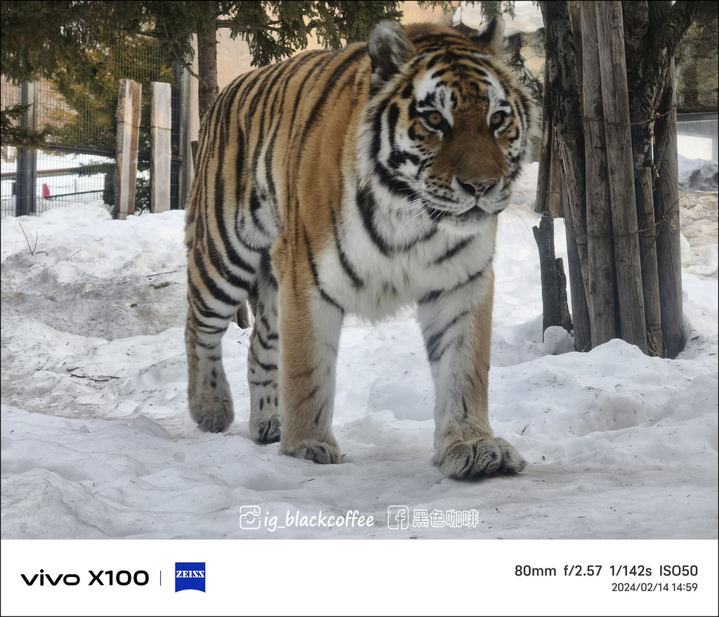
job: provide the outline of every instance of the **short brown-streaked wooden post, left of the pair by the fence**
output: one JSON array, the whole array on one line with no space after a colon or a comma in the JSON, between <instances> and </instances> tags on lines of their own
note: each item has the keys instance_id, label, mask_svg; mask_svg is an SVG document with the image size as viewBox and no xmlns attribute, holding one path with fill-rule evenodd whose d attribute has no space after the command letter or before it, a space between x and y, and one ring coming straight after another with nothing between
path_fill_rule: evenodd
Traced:
<instances>
[{"instance_id":1,"label":"short brown-streaked wooden post, left of the pair by the fence","mask_svg":"<svg viewBox=\"0 0 719 617\"><path fill-rule=\"evenodd\" d=\"M120 80L115 167L115 218L119 220L134 214L141 96L142 84L132 79Z\"/></svg>"}]
</instances>

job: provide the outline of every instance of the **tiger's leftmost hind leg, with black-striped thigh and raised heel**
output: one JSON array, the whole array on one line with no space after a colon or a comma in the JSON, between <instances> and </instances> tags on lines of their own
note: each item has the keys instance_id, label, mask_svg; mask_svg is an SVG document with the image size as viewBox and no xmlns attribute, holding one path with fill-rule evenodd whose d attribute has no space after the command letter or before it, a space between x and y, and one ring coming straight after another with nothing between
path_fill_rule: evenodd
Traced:
<instances>
[{"instance_id":1,"label":"tiger's leftmost hind leg, with black-striped thigh and raised heel","mask_svg":"<svg viewBox=\"0 0 719 617\"><path fill-rule=\"evenodd\" d=\"M203 431L226 431L234 419L221 341L255 286L259 258L248 252L240 264L237 256L221 256L215 247L203 250L199 243L188 251L188 398L190 415Z\"/></svg>"}]
</instances>

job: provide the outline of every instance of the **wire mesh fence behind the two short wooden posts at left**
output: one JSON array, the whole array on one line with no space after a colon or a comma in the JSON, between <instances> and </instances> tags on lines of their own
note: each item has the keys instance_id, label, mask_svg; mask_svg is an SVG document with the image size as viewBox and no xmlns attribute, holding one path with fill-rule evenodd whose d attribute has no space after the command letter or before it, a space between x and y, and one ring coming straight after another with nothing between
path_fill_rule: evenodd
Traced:
<instances>
[{"instance_id":1,"label":"wire mesh fence behind the two short wooden posts at left","mask_svg":"<svg viewBox=\"0 0 719 617\"><path fill-rule=\"evenodd\" d=\"M114 204L117 91L121 78L142 84L136 212L150 207L150 83L172 84L173 191L171 207L182 207L185 98L183 70L168 66L150 37L133 37L114 48L96 50L104 74L91 84L60 76L55 81L13 84L2 78L2 106L32 104L27 126L47 129L41 150L3 147L1 217L40 213L68 203ZM25 88L25 90L23 90ZM177 186L175 186L177 183Z\"/></svg>"}]
</instances>

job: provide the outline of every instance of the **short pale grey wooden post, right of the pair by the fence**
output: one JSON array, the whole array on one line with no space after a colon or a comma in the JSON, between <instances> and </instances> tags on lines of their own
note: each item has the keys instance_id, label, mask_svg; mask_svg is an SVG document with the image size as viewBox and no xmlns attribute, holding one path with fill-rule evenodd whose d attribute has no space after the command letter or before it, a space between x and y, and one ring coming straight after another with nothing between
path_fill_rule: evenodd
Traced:
<instances>
[{"instance_id":1,"label":"short pale grey wooden post, right of the pair by the fence","mask_svg":"<svg viewBox=\"0 0 719 617\"><path fill-rule=\"evenodd\" d=\"M150 84L150 212L170 210L171 98L170 84Z\"/></svg>"}]
</instances>

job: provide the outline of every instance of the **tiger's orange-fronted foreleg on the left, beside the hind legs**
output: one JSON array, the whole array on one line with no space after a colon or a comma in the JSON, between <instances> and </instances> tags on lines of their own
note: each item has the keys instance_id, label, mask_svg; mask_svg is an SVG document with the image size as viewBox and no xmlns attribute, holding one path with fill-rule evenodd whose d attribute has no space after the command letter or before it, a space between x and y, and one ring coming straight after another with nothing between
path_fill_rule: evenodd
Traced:
<instances>
[{"instance_id":1,"label":"tiger's orange-fronted foreleg on the left, beside the hind legs","mask_svg":"<svg viewBox=\"0 0 719 617\"><path fill-rule=\"evenodd\" d=\"M275 260L275 255L280 304L280 450L316 463L339 463L332 412L344 315L317 286L311 256L308 263L303 258Z\"/></svg>"}]
</instances>

